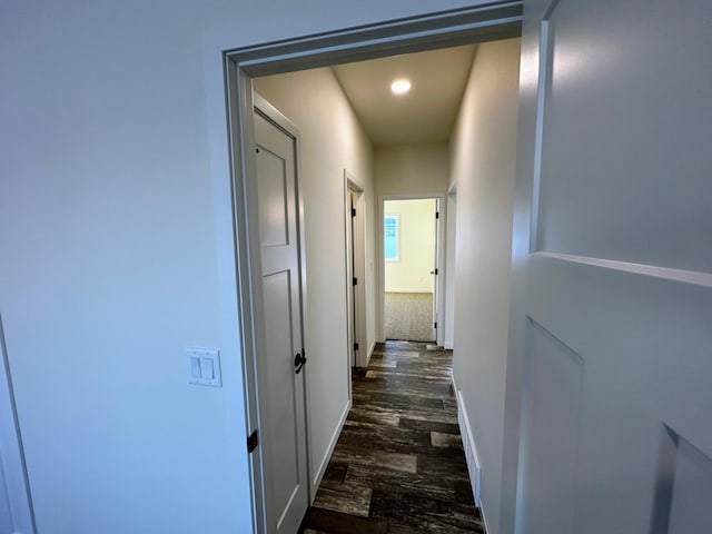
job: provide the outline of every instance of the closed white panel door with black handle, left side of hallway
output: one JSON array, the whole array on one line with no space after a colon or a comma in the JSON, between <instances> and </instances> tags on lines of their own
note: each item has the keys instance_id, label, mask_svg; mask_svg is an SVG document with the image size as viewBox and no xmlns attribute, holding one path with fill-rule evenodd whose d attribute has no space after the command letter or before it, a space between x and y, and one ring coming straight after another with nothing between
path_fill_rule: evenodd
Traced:
<instances>
[{"instance_id":1,"label":"closed white panel door with black handle, left side of hallway","mask_svg":"<svg viewBox=\"0 0 712 534\"><path fill-rule=\"evenodd\" d=\"M309 505L295 138L255 113L265 354L258 357L268 532L294 534Z\"/></svg>"}]
</instances>

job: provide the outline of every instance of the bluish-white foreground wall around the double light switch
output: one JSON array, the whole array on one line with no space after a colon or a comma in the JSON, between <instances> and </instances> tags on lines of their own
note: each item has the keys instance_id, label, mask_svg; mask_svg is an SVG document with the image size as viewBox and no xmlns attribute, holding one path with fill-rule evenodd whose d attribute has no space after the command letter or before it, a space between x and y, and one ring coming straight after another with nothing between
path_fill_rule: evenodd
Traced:
<instances>
[{"instance_id":1,"label":"bluish-white foreground wall around the double light switch","mask_svg":"<svg viewBox=\"0 0 712 534\"><path fill-rule=\"evenodd\" d=\"M251 530L220 50L472 3L2 2L0 312L40 532ZM222 388L187 384L188 345Z\"/></svg>"}]
</instances>

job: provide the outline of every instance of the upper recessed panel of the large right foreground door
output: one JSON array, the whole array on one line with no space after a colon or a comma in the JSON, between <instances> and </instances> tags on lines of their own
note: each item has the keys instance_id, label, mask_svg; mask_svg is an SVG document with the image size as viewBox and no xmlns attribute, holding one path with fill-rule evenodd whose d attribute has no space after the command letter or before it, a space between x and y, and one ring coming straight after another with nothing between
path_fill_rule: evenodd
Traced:
<instances>
[{"instance_id":1,"label":"upper recessed panel of the large right foreground door","mask_svg":"<svg viewBox=\"0 0 712 534\"><path fill-rule=\"evenodd\" d=\"M537 249L712 273L712 18L592 3L548 14Z\"/></svg>"}]
</instances>

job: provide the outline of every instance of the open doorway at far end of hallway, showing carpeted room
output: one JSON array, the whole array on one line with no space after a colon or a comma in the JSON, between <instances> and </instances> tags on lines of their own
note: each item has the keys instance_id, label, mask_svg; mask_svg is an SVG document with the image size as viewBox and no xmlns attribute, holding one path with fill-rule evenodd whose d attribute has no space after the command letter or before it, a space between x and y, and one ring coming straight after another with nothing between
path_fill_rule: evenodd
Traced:
<instances>
[{"instance_id":1,"label":"open doorway at far end of hallway, showing carpeted room","mask_svg":"<svg viewBox=\"0 0 712 534\"><path fill-rule=\"evenodd\" d=\"M386 339L436 340L437 202L437 198L384 201Z\"/></svg>"}]
</instances>

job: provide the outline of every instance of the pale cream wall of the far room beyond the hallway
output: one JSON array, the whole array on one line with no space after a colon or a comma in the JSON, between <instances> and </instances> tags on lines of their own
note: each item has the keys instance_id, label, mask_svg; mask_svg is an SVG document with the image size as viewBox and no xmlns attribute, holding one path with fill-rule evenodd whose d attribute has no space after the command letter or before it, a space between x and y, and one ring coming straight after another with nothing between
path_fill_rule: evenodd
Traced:
<instances>
[{"instance_id":1,"label":"pale cream wall of the far room beyond the hallway","mask_svg":"<svg viewBox=\"0 0 712 534\"><path fill-rule=\"evenodd\" d=\"M385 263L386 291L433 293L434 198L386 200L384 214L398 217L398 259Z\"/></svg>"}]
</instances>

